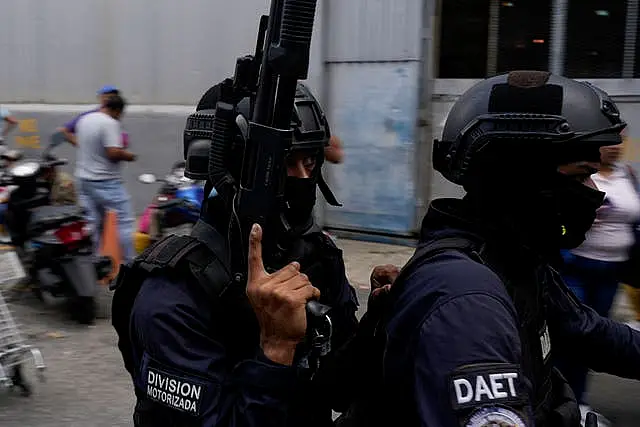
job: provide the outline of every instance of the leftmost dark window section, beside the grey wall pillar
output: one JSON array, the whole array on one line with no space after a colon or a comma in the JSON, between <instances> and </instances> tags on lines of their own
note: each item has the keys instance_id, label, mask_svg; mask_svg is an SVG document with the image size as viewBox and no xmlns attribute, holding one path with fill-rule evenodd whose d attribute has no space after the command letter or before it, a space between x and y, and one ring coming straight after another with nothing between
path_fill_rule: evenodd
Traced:
<instances>
[{"instance_id":1,"label":"leftmost dark window section, beside the grey wall pillar","mask_svg":"<svg viewBox=\"0 0 640 427\"><path fill-rule=\"evenodd\" d=\"M485 77L489 0L442 0L440 16L438 77Z\"/></svg>"}]
</instances>

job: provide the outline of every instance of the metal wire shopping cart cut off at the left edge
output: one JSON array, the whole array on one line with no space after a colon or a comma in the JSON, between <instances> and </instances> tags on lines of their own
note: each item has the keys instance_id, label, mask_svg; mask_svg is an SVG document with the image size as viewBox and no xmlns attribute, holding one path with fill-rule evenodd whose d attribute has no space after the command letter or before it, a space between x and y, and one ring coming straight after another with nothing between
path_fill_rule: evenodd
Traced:
<instances>
[{"instance_id":1,"label":"metal wire shopping cart cut off at the left edge","mask_svg":"<svg viewBox=\"0 0 640 427\"><path fill-rule=\"evenodd\" d=\"M4 250L4 251L2 251ZM11 247L0 247L0 285L3 289L24 279L22 264ZM22 365L33 360L38 377L44 381L44 360L40 350L27 344L13 320L0 290L0 387L19 388L24 396L31 387L24 379Z\"/></svg>"}]
</instances>

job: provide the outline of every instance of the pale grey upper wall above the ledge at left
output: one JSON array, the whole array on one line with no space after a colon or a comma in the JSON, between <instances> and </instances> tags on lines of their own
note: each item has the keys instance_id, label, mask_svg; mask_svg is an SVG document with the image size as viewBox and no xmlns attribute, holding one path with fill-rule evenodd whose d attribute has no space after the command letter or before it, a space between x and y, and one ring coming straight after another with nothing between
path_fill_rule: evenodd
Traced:
<instances>
[{"instance_id":1,"label":"pale grey upper wall above the ledge at left","mask_svg":"<svg viewBox=\"0 0 640 427\"><path fill-rule=\"evenodd\" d=\"M87 103L114 84L133 104L192 105L253 53L269 4L2 0L0 102Z\"/></svg>"}]
</instances>

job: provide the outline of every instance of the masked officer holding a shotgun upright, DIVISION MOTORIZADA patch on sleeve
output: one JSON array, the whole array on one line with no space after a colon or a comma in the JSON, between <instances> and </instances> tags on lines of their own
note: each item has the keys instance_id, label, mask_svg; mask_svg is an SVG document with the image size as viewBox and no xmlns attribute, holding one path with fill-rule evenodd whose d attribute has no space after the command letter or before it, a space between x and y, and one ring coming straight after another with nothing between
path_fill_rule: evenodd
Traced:
<instances>
[{"instance_id":1,"label":"masked officer holding a shotgun upright, DIVISION MOTORIZADA patch on sleeve","mask_svg":"<svg viewBox=\"0 0 640 427\"><path fill-rule=\"evenodd\" d=\"M207 91L187 122L185 174L191 178L209 178L207 132L221 90L223 85ZM209 181L210 196L191 236L162 240L123 267L113 323L133 377L136 426L332 425L331 409L339 409L341 400L333 358L357 327L357 298L342 252L313 221L330 134L303 84L292 126L284 212L292 231L286 245L263 251L262 230L255 226L247 255L230 226L228 192ZM225 159L236 180L241 145ZM248 277L234 274L247 256ZM331 339L320 353L308 334L310 299L331 308Z\"/></svg>"}]
</instances>

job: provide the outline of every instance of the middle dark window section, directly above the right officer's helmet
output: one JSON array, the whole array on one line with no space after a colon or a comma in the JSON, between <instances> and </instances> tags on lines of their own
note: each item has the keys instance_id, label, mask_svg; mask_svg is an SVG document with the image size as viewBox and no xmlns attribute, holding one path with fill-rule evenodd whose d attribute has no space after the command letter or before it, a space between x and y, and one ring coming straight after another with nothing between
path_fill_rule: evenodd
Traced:
<instances>
[{"instance_id":1,"label":"middle dark window section, directly above the right officer's helmet","mask_svg":"<svg viewBox=\"0 0 640 427\"><path fill-rule=\"evenodd\" d=\"M497 72L547 70L551 0L501 1Z\"/></svg>"}]
</instances>

